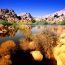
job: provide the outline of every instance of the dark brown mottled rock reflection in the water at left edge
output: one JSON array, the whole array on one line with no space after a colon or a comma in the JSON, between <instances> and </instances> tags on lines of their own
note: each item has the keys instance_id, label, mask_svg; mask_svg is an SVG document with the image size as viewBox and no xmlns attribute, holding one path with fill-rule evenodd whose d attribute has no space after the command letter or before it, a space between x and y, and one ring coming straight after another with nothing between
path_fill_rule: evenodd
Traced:
<instances>
[{"instance_id":1,"label":"dark brown mottled rock reflection in the water at left edge","mask_svg":"<svg viewBox=\"0 0 65 65\"><path fill-rule=\"evenodd\" d=\"M16 33L16 29L13 26L3 26L0 25L0 37L3 38L6 35L14 36Z\"/></svg>"}]
</instances>

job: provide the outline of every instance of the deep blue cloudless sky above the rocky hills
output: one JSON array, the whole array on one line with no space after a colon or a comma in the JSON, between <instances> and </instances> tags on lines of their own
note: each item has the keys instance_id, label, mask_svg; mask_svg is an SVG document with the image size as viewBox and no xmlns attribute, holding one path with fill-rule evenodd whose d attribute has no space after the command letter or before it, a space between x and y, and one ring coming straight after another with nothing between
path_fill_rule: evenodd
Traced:
<instances>
[{"instance_id":1,"label":"deep blue cloudless sky above the rocky hills","mask_svg":"<svg viewBox=\"0 0 65 65\"><path fill-rule=\"evenodd\" d=\"M65 0L0 0L0 8L13 9L17 14L45 16L65 8Z\"/></svg>"}]
</instances>

